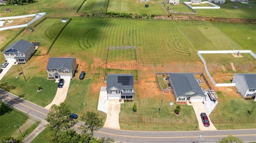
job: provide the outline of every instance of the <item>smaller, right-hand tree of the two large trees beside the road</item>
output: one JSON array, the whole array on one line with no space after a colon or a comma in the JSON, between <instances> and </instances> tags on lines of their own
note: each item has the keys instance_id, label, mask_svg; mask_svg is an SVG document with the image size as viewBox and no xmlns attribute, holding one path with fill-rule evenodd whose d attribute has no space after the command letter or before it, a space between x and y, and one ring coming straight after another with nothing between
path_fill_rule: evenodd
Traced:
<instances>
[{"instance_id":1,"label":"smaller, right-hand tree of the two large trees beside the road","mask_svg":"<svg viewBox=\"0 0 256 143\"><path fill-rule=\"evenodd\" d=\"M103 127L103 121L99 118L99 113L95 112L86 112L82 116L82 121L84 121L84 125L81 125L80 129L82 129L82 133L86 133L88 130L91 131L91 135L93 135L94 131L98 131Z\"/></svg>"}]
</instances>

